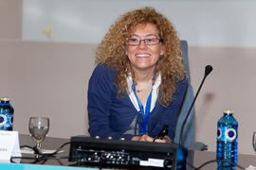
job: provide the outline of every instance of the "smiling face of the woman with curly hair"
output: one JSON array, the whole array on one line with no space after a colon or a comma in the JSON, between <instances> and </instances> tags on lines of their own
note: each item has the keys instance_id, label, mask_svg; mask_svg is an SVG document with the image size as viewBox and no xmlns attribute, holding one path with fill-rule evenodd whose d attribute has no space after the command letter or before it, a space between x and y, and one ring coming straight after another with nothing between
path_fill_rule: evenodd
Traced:
<instances>
[{"instance_id":1,"label":"smiling face of the woman with curly hair","mask_svg":"<svg viewBox=\"0 0 256 170\"><path fill-rule=\"evenodd\" d=\"M158 29L153 24L139 24L136 26L130 39L160 39ZM154 45L147 45L140 41L136 46L127 45L126 55L131 62L135 72L154 70L160 55L163 55L163 44L159 42Z\"/></svg>"}]
</instances>

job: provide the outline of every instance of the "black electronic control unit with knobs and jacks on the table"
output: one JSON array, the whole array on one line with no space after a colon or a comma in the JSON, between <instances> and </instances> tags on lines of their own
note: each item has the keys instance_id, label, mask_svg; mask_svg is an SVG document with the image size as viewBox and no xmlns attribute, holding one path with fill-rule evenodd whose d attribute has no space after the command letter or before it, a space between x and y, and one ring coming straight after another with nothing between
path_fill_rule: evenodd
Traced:
<instances>
[{"instance_id":1,"label":"black electronic control unit with knobs and jacks on the table","mask_svg":"<svg viewBox=\"0 0 256 170\"><path fill-rule=\"evenodd\" d=\"M71 137L69 160L82 164L175 169L177 144Z\"/></svg>"}]
</instances>

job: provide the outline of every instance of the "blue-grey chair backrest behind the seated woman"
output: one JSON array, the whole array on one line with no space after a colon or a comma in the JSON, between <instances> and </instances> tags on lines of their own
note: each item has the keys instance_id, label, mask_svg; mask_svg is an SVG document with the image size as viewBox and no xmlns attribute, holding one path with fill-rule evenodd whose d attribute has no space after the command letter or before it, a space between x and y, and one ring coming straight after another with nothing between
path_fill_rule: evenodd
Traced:
<instances>
[{"instance_id":1,"label":"blue-grey chair backrest behind the seated woman","mask_svg":"<svg viewBox=\"0 0 256 170\"><path fill-rule=\"evenodd\" d=\"M182 57L185 65L185 70L188 78L188 88L187 92L185 93L185 98L183 100L182 108L179 112L178 118L176 120L176 127L175 127L175 136L174 142L176 144L179 143L179 136L180 136L180 128L186 118L186 115L192 105L193 99L193 92L191 86L191 76L190 76L190 66L189 66L189 59L188 59L188 43L186 41L180 41L180 46L182 50ZM185 124L182 134L182 142L183 145L189 146L194 143L194 108Z\"/></svg>"}]
</instances>

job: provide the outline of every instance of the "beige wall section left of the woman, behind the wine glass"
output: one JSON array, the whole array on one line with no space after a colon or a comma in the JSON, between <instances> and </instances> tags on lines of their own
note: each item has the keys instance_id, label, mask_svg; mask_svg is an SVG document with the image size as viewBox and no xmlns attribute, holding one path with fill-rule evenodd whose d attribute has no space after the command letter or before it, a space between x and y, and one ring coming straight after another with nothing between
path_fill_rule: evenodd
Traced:
<instances>
[{"instance_id":1,"label":"beige wall section left of the woman, behind the wine glass","mask_svg":"<svg viewBox=\"0 0 256 170\"><path fill-rule=\"evenodd\" d=\"M14 130L32 115L50 117L49 136L87 134L87 84L95 44L0 42L0 95L14 107Z\"/></svg>"}]
</instances>

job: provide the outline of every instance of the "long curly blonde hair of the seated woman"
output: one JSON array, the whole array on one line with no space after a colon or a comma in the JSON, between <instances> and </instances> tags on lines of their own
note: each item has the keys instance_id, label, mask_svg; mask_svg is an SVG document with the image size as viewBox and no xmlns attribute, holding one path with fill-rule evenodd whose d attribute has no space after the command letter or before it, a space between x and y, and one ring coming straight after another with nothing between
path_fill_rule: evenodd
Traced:
<instances>
[{"instance_id":1,"label":"long curly blonde hair of the seated woman","mask_svg":"<svg viewBox=\"0 0 256 170\"><path fill-rule=\"evenodd\" d=\"M164 55L159 58L156 66L156 74L161 74L159 86L159 103L167 107L173 101L177 81L185 78L186 73L182 61L179 39L174 26L162 14L154 8L140 8L121 15L110 26L107 34L101 41L96 51L96 63L112 68L117 73L115 85L118 87L118 95L127 94L126 78L132 70L130 60L126 52L126 42L138 24L154 24L159 37L163 40ZM134 77L133 77L134 79Z\"/></svg>"}]
</instances>

